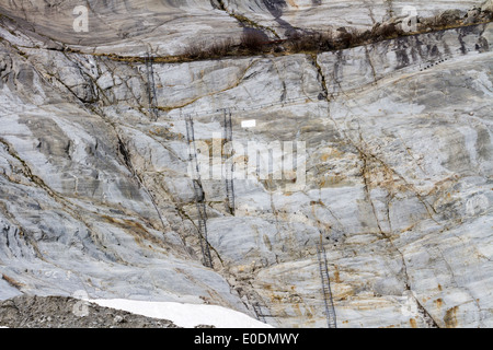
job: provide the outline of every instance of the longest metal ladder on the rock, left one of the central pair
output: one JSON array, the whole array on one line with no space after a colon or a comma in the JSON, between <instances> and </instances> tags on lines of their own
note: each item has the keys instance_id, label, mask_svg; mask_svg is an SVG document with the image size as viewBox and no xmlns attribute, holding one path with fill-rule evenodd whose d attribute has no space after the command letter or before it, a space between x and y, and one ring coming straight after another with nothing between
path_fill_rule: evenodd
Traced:
<instances>
[{"instance_id":1,"label":"longest metal ladder on the rock, left one of the central pair","mask_svg":"<svg viewBox=\"0 0 493 350\"><path fill-rule=\"evenodd\" d=\"M200 241L202 256L204 266L214 269L213 257L210 256L209 243L207 241L207 209L205 205L204 188L200 180L200 168L197 160L197 149L195 145L194 120L190 115L185 116L186 124L186 139L188 141L188 161L194 171L194 178L192 178L195 205L198 213L198 234Z\"/></svg>"}]
</instances>

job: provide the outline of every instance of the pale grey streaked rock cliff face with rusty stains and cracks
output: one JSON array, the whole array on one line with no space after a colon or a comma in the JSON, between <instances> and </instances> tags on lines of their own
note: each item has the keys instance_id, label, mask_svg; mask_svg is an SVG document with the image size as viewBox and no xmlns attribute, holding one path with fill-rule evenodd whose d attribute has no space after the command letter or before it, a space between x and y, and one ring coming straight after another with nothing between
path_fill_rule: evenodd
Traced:
<instances>
[{"instance_id":1,"label":"pale grey streaked rock cliff face with rusty stains and cracks","mask_svg":"<svg viewBox=\"0 0 493 350\"><path fill-rule=\"evenodd\" d=\"M144 61L107 55L238 38L245 19L272 37L371 25L389 2L88 1L89 33L72 30L77 1L49 3L0 1L0 299L84 291L246 313L263 301L275 326L324 327L322 236L340 327L493 326L491 24L156 63L153 120ZM220 108L239 144L302 142L306 180L237 179L231 214L225 182L203 178L211 270L184 115L213 150Z\"/></svg>"}]
</instances>

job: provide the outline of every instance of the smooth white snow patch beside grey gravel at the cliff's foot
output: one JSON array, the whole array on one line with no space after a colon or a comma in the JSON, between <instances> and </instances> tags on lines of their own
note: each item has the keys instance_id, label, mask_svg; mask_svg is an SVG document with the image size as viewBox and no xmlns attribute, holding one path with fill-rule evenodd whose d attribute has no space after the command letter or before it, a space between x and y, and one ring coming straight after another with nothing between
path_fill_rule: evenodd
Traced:
<instances>
[{"instance_id":1,"label":"smooth white snow patch beside grey gravel at the cliff's foot","mask_svg":"<svg viewBox=\"0 0 493 350\"><path fill-rule=\"evenodd\" d=\"M217 328L273 328L243 313L216 305L146 302L124 299L99 299L89 300L89 302L137 315L168 319L184 328L193 328L198 325L211 325Z\"/></svg>"}]
</instances>

